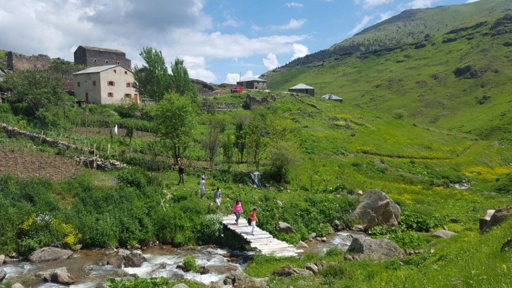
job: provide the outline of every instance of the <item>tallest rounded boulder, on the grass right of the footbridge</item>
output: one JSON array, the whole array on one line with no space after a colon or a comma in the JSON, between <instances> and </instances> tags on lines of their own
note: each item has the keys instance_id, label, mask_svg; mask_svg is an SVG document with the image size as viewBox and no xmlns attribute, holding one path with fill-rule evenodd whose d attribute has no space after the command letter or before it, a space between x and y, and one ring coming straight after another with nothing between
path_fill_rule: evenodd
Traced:
<instances>
[{"instance_id":1,"label":"tallest rounded boulder, on the grass right of the footbridge","mask_svg":"<svg viewBox=\"0 0 512 288\"><path fill-rule=\"evenodd\" d=\"M354 214L361 220L365 231L376 225L396 227L400 219L400 207L386 193L372 189L359 198Z\"/></svg>"}]
</instances>

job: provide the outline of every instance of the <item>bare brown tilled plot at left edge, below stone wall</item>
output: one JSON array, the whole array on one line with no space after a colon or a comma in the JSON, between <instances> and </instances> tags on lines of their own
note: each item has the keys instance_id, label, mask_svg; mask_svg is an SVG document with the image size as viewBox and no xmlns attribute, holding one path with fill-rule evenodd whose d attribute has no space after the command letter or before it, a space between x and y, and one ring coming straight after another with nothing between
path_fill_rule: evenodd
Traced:
<instances>
[{"instance_id":1,"label":"bare brown tilled plot at left edge, below stone wall","mask_svg":"<svg viewBox=\"0 0 512 288\"><path fill-rule=\"evenodd\" d=\"M81 173L75 161L39 151L13 152L0 146L0 174L64 179Z\"/></svg>"}]
</instances>

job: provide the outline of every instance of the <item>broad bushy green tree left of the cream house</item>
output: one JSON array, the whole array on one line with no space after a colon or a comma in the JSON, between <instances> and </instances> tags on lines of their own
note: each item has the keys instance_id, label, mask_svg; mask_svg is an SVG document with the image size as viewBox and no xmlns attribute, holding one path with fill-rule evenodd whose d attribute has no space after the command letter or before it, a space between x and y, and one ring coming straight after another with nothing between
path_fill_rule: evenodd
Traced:
<instances>
[{"instance_id":1,"label":"broad bushy green tree left of the cream house","mask_svg":"<svg viewBox=\"0 0 512 288\"><path fill-rule=\"evenodd\" d=\"M29 69L9 73L1 85L11 92L12 102L27 104L34 115L42 108L62 107L70 100L63 90L62 77L48 71Z\"/></svg>"}]
</instances>

